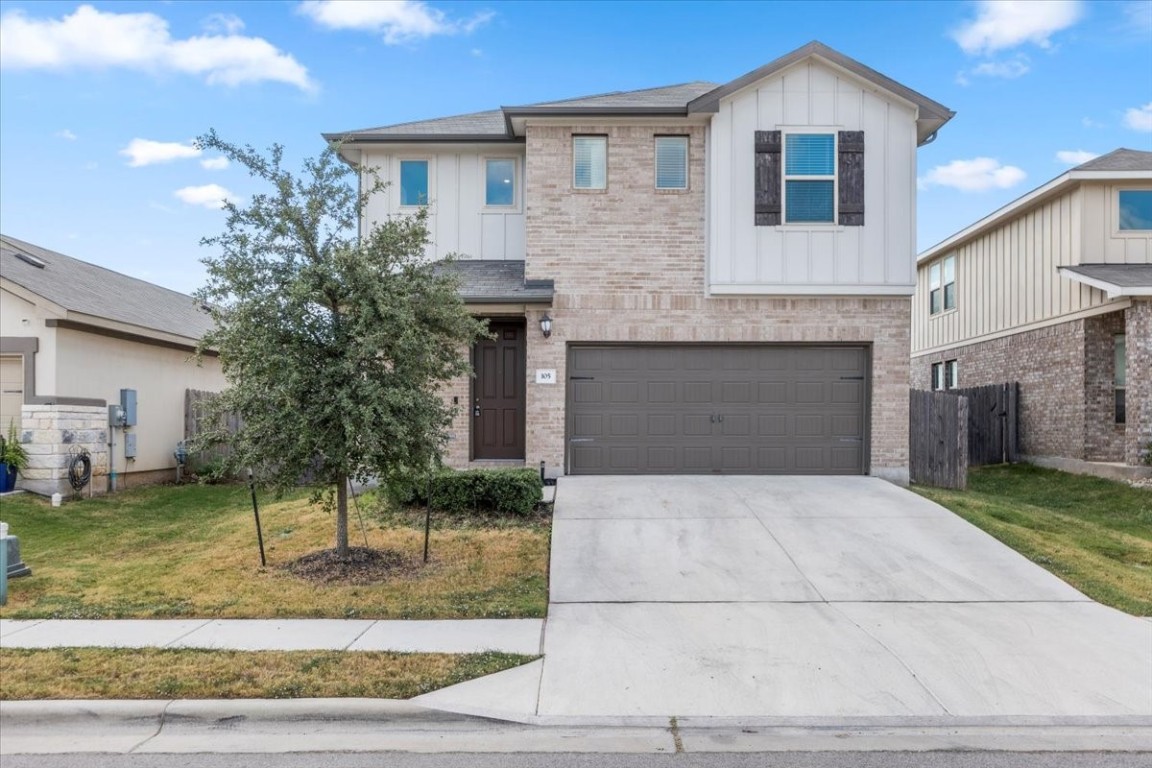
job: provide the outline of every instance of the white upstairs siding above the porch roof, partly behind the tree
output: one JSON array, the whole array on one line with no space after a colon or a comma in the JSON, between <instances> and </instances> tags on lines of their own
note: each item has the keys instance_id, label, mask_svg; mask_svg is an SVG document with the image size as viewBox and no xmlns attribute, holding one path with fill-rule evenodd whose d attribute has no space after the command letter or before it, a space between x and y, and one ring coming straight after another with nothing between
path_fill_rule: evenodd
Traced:
<instances>
[{"instance_id":1,"label":"white upstairs siding above the porch roof, partly behind the tree","mask_svg":"<svg viewBox=\"0 0 1152 768\"><path fill-rule=\"evenodd\" d=\"M516 204L484 204L484 161L488 158L516 160ZM476 149L366 152L363 162L376 168L388 183L382 195L367 206L366 221L411 214L415 207L400 205L400 161L429 162L429 258L449 253L462 259L524 259L524 149L523 146L483 146Z\"/></svg>"}]
</instances>

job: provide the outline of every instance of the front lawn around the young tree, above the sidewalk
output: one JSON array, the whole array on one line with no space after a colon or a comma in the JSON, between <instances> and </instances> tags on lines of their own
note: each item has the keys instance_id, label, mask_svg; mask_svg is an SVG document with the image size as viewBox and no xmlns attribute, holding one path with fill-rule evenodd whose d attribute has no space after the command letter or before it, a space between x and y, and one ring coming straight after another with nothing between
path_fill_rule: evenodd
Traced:
<instances>
[{"instance_id":1,"label":"front lawn around the young tree, above the sidewalk","mask_svg":"<svg viewBox=\"0 0 1152 768\"><path fill-rule=\"evenodd\" d=\"M9 581L3 618L502 618L547 608L550 525L437 516L423 565L423 516L361 500L367 546L403 562L385 580L325 583L286 567L331 548L334 518L303 494L260 496L268 564L260 567L244 486L153 486L53 508L6 497L32 576ZM355 508L349 540L365 546Z\"/></svg>"}]
</instances>

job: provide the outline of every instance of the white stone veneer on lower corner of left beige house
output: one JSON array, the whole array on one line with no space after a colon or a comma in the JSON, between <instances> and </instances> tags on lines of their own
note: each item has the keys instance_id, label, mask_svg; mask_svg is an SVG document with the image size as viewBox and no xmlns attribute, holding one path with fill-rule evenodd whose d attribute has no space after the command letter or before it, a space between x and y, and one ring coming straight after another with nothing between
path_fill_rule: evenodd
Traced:
<instances>
[{"instance_id":1,"label":"white stone veneer on lower corner of left beige house","mask_svg":"<svg viewBox=\"0 0 1152 768\"><path fill-rule=\"evenodd\" d=\"M70 494L68 462L74 450L86 448L92 457L90 487L94 493L107 491L108 409L93 405L24 405L21 420L21 442L28 451L28 467L21 472L17 488L45 496Z\"/></svg>"}]
</instances>

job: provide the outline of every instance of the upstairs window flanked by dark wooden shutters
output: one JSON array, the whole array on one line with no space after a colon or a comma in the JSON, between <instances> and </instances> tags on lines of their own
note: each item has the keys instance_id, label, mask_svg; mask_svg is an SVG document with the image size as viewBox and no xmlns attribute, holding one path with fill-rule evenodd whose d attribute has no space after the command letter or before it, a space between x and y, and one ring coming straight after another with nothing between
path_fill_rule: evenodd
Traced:
<instances>
[{"instance_id":1,"label":"upstairs window flanked by dark wooden shutters","mask_svg":"<svg viewBox=\"0 0 1152 768\"><path fill-rule=\"evenodd\" d=\"M835 134L785 135L785 223L833 223Z\"/></svg>"}]
</instances>

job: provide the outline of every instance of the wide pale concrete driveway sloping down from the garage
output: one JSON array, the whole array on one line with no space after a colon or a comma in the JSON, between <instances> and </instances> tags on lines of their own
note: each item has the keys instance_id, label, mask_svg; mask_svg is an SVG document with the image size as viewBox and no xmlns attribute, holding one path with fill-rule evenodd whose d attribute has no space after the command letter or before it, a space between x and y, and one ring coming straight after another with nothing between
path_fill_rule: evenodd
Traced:
<instances>
[{"instance_id":1,"label":"wide pale concrete driveway sloping down from the garage","mask_svg":"<svg viewBox=\"0 0 1152 768\"><path fill-rule=\"evenodd\" d=\"M543 661L420 701L530 721L1152 716L1152 622L873 478L563 478L551 577Z\"/></svg>"}]
</instances>

